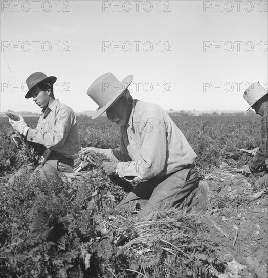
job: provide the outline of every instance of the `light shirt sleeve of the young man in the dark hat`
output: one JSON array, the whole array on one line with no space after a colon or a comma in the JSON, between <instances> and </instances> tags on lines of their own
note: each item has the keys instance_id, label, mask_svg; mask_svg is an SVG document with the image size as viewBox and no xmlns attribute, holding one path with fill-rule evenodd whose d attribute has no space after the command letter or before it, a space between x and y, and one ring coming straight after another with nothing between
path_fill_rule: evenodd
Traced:
<instances>
[{"instance_id":1,"label":"light shirt sleeve of the young man in the dark hat","mask_svg":"<svg viewBox=\"0 0 268 278\"><path fill-rule=\"evenodd\" d=\"M70 129L75 124L75 114L68 107L62 107L57 110L55 117L56 125L44 123L39 128L30 128L27 133L27 140L47 147L62 146L70 132Z\"/></svg>"}]
</instances>

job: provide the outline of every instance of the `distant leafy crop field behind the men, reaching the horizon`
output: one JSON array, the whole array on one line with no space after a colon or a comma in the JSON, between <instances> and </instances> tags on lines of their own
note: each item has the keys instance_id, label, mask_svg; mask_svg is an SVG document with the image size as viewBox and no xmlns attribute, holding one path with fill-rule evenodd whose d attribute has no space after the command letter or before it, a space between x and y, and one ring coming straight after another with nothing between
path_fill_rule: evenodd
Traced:
<instances>
[{"instance_id":1,"label":"distant leafy crop field behind the men, reaching the horizon","mask_svg":"<svg viewBox=\"0 0 268 278\"><path fill-rule=\"evenodd\" d=\"M32 128L37 117L25 117ZM196 163L201 168L219 166L222 161L230 166L245 164L245 155L238 148L253 149L260 143L260 117L173 117L174 122L185 134L187 140L198 155ZM80 145L99 148L119 146L119 128L109 123L106 117L92 121L90 117L79 117ZM8 139L11 126L7 117L1 118L1 164L2 176L10 173L16 166L21 166L16 154L18 151ZM7 165L6 160L11 163ZM16 161L14 164L12 161ZM6 166L5 166L6 165Z\"/></svg>"}]
</instances>

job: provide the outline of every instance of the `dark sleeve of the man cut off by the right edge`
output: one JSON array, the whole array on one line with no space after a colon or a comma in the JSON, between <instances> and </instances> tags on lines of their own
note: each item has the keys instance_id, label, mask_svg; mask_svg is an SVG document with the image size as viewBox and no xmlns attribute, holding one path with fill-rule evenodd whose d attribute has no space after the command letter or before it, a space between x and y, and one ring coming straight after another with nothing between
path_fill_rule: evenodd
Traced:
<instances>
[{"instance_id":1,"label":"dark sleeve of the man cut off by the right edge","mask_svg":"<svg viewBox=\"0 0 268 278\"><path fill-rule=\"evenodd\" d=\"M268 114L261 119L261 144L255 156L249 162L249 168L252 172L256 171L267 158L268 145Z\"/></svg>"}]
</instances>

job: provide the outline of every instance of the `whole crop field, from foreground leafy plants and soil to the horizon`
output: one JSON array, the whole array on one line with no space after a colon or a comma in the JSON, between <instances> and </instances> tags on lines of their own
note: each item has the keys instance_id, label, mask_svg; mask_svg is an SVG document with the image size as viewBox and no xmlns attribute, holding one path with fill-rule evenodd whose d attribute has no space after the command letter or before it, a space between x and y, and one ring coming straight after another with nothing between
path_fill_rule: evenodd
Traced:
<instances>
[{"instance_id":1,"label":"whole crop field, from foreground leafy plants and soil to the horizon","mask_svg":"<svg viewBox=\"0 0 268 278\"><path fill-rule=\"evenodd\" d=\"M250 117L173 117L198 155L200 180L210 186L209 216L187 215L168 204L137 223L116 204L128 184L92 166L77 180L60 177L13 186L8 176L34 157L12 142L1 118L1 277L258 277L267 275L267 189L253 200L258 177L228 174L260 144L260 121ZM32 127L37 118L27 118ZM78 117L80 145L119 146L119 128L105 117ZM100 160L103 157L99 157ZM237 230L239 233L237 234ZM231 276L230 276L231 277Z\"/></svg>"}]
</instances>

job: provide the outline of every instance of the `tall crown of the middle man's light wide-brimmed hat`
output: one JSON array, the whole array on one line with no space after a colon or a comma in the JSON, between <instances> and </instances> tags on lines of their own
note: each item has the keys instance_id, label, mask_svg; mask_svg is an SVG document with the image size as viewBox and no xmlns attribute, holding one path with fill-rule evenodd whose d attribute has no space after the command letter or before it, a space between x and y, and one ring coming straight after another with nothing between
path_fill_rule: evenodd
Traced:
<instances>
[{"instance_id":1,"label":"tall crown of the middle man's light wide-brimmed hat","mask_svg":"<svg viewBox=\"0 0 268 278\"><path fill-rule=\"evenodd\" d=\"M118 92L122 92L129 82L120 82L111 72L98 77L88 88L86 94L90 96L99 107L104 107Z\"/></svg>"}]
</instances>

